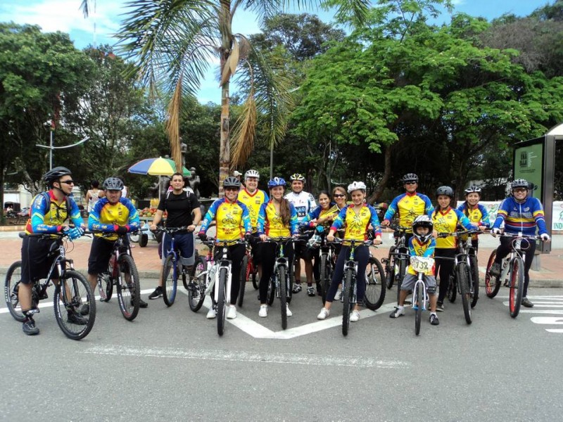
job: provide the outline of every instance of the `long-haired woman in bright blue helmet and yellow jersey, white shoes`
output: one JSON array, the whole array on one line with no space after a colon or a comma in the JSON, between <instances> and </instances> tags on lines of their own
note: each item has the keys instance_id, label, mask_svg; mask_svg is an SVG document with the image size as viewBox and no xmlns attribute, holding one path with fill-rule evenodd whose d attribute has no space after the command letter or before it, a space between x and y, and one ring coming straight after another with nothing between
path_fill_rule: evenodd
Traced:
<instances>
[{"instance_id":1,"label":"long-haired woman in bright blue helmet and yellow jersey, white shoes","mask_svg":"<svg viewBox=\"0 0 563 422\"><path fill-rule=\"evenodd\" d=\"M270 200L263 203L258 213L258 234L260 240L260 256L262 258L262 277L260 277L260 311L258 315L262 318L268 316L268 305L266 296L268 282L274 272L276 262L276 245L267 243L268 237L289 237L298 234L297 212L293 204L284 198L286 181L282 177L274 177L268 181L270 188ZM291 274L291 262L293 262L293 245L291 242L284 244L284 253L289 262L289 273ZM287 307L287 316L292 312Z\"/></svg>"}]
</instances>

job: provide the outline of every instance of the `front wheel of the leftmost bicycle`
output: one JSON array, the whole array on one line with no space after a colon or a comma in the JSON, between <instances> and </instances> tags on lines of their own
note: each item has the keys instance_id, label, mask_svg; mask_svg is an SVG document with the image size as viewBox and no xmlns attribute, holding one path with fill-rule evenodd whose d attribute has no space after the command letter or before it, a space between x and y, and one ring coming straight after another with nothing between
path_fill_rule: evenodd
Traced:
<instances>
[{"instance_id":1,"label":"front wheel of the leftmost bicycle","mask_svg":"<svg viewBox=\"0 0 563 422\"><path fill-rule=\"evenodd\" d=\"M88 313L80 310L88 305ZM72 340L80 340L88 335L96 321L96 299L90 283L82 274L73 269L65 271L59 279L53 295L55 319L61 331Z\"/></svg>"}]
</instances>

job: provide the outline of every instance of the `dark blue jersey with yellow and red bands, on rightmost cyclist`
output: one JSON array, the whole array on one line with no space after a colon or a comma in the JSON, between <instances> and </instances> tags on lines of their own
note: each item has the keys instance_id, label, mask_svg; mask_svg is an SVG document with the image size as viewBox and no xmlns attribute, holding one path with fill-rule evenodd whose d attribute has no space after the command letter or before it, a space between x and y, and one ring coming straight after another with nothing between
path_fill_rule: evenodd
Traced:
<instances>
[{"instance_id":1,"label":"dark blue jersey with yellow and red bands, on rightmost cyclist","mask_svg":"<svg viewBox=\"0 0 563 422\"><path fill-rule=\"evenodd\" d=\"M505 232L510 234L521 232L525 236L533 236L536 234L536 226L540 234L548 233L543 207L538 198L528 197L523 203L518 203L512 196L506 198L498 207L493 229L499 229L502 222L505 222Z\"/></svg>"}]
</instances>

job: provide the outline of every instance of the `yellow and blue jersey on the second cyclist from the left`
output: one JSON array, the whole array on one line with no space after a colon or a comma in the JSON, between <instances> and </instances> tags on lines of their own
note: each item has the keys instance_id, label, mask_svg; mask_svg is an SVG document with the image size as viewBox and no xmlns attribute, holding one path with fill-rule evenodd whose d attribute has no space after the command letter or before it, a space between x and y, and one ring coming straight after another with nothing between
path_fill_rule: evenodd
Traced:
<instances>
[{"instance_id":1,"label":"yellow and blue jersey on the second cyclist from the left","mask_svg":"<svg viewBox=\"0 0 563 422\"><path fill-rule=\"evenodd\" d=\"M104 233L115 233L115 226L126 226L127 231L139 229L139 213L130 200L119 198L118 202L111 204L108 198L101 198L94 210L88 216L88 229L103 231ZM103 234L96 233L94 236L101 237ZM116 241L118 235L103 236L106 241Z\"/></svg>"}]
</instances>

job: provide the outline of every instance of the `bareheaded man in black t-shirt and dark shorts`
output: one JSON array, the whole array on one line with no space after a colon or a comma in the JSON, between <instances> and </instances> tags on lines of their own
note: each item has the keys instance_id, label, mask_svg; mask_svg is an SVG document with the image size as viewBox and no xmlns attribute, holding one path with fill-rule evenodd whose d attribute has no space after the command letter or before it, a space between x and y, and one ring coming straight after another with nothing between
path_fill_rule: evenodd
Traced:
<instances>
[{"instance_id":1,"label":"bareheaded man in black t-shirt and dark shorts","mask_svg":"<svg viewBox=\"0 0 563 422\"><path fill-rule=\"evenodd\" d=\"M167 212L165 226L166 227L185 227L182 231L174 234L175 248L180 251L180 255L184 258L182 264L193 264L194 262L194 230L201 222L201 210L198 198L194 193L186 192L184 188L184 177L181 173L172 174L170 181L172 191L167 192L166 196L158 203L158 210L151 224L151 230L156 230L156 226L163 218L164 212ZM162 241L163 264L166 261L166 255L170 250L171 238L170 234L165 233ZM149 299L157 299L163 295L163 268L160 268L160 279L158 287L148 295Z\"/></svg>"}]
</instances>

